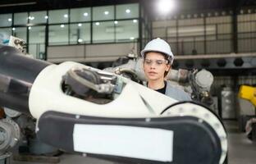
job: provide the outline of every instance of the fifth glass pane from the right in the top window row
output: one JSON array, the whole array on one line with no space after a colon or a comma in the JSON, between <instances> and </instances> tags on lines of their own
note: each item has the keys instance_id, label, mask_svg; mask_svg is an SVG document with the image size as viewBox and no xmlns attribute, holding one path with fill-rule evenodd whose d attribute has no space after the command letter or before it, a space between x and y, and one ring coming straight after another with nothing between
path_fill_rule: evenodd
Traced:
<instances>
[{"instance_id":1,"label":"fifth glass pane from the right in the top window row","mask_svg":"<svg viewBox=\"0 0 256 164\"><path fill-rule=\"evenodd\" d=\"M28 17L29 23L31 24L40 24L46 23L48 16L46 11L35 11L30 12L30 16Z\"/></svg>"}]
</instances>

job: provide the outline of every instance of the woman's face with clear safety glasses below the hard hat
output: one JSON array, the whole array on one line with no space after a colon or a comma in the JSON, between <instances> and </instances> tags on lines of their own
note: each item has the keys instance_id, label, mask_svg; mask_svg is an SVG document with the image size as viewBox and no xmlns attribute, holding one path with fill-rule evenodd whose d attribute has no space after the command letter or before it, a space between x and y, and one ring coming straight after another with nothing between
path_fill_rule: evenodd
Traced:
<instances>
[{"instance_id":1,"label":"woman's face with clear safety glasses below the hard hat","mask_svg":"<svg viewBox=\"0 0 256 164\"><path fill-rule=\"evenodd\" d=\"M144 57L143 69L148 80L164 79L164 72L171 66L160 52L148 52Z\"/></svg>"}]
</instances>

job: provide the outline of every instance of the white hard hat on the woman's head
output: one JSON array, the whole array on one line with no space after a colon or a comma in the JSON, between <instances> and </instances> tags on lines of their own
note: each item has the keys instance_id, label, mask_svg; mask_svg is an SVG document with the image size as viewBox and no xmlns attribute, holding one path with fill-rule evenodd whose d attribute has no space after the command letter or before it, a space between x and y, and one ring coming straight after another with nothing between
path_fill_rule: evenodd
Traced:
<instances>
[{"instance_id":1,"label":"white hard hat on the woman's head","mask_svg":"<svg viewBox=\"0 0 256 164\"><path fill-rule=\"evenodd\" d=\"M173 53L171 52L170 45L164 41L163 39L153 39L147 45L145 48L140 52L141 56L144 57L145 52L162 52L170 57L169 62L172 64L173 62Z\"/></svg>"}]
</instances>

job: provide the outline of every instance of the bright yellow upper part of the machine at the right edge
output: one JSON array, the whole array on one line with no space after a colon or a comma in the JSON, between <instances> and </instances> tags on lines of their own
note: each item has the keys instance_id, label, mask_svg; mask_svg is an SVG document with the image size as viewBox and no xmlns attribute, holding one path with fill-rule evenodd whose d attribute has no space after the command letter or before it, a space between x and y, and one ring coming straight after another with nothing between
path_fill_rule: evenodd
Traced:
<instances>
[{"instance_id":1,"label":"bright yellow upper part of the machine at the right edge","mask_svg":"<svg viewBox=\"0 0 256 164\"><path fill-rule=\"evenodd\" d=\"M254 107L256 107L256 88L255 87L241 85L238 96L240 98L249 100L249 102L253 103Z\"/></svg>"}]
</instances>

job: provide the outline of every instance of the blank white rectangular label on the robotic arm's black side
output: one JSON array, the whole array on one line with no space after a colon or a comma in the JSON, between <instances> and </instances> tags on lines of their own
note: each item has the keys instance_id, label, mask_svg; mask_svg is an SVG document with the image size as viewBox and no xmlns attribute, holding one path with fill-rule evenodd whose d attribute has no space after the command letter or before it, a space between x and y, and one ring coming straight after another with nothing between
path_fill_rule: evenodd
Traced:
<instances>
[{"instance_id":1,"label":"blank white rectangular label on the robotic arm's black side","mask_svg":"<svg viewBox=\"0 0 256 164\"><path fill-rule=\"evenodd\" d=\"M172 162L172 130L75 124L73 139L76 152Z\"/></svg>"}]
</instances>

